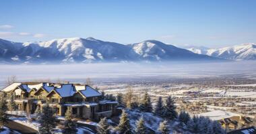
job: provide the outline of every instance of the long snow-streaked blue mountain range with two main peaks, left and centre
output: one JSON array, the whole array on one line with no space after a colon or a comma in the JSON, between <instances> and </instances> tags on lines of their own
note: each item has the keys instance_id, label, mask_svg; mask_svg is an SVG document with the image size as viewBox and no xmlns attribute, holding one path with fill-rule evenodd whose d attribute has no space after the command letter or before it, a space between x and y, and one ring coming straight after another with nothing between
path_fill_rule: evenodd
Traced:
<instances>
[{"instance_id":1,"label":"long snow-streaked blue mountain range with two main peaks, left and centre","mask_svg":"<svg viewBox=\"0 0 256 134\"><path fill-rule=\"evenodd\" d=\"M64 38L46 42L16 43L0 40L0 62L70 63L163 60L218 60L194 54L156 40L123 45L94 38Z\"/></svg>"}]
</instances>

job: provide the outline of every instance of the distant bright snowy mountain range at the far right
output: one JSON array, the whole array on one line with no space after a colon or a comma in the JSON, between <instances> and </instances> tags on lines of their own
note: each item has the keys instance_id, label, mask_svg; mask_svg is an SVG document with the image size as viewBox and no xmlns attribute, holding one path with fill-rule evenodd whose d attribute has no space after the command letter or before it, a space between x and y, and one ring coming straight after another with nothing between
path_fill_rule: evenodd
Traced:
<instances>
[{"instance_id":1,"label":"distant bright snowy mountain range at the far right","mask_svg":"<svg viewBox=\"0 0 256 134\"><path fill-rule=\"evenodd\" d=\"M256 60L256 45L241 44L219 49L187 48L196 54L205 54L216 58L228 60Z\"/></svg>"}]
</instances>

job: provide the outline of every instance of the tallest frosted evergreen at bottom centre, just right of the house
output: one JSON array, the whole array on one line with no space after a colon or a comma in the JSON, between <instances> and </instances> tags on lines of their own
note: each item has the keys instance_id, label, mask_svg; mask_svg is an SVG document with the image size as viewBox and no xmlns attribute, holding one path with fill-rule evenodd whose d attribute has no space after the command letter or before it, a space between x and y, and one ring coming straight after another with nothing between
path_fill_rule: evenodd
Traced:
<instances>
[{"instance_id":1,"label":"tallest frosted evergreen at bottom centre, just right of the house","mask_svg":"<svg viewBox=\"0 0 256 134\"><path fill-rule=\"evenodd\" d=\"M131 125L128 119L128 115L127 113L125 113L125 110L123 110L122 115L120 117L120 122L117 126L117 131L119 131L120 134L131 134Z\"/></svg>"}]
</instances>

